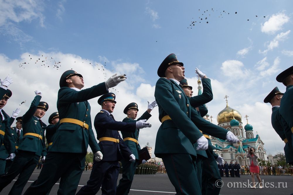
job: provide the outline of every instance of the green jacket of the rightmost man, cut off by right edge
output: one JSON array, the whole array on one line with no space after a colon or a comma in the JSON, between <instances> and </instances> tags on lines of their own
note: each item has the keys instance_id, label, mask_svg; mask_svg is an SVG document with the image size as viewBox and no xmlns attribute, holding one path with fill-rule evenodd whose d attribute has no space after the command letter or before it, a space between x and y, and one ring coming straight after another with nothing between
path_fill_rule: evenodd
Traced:
<instances>
[{"instance_id":1,"label":"green jacket of the rightmost man, cut off by right edge","mask_svg":"<svg viewBox=\"0 0 293 195\"><path fill-rule=\"evenodd\" d=\"M284 93L281 101L281 105L279 108L279 112L288 124L289 129L291 129L291 137L292 137L292 146L293 146L293 85L289 85L286 87L286 92ZM286 130L285 130L286 131ZM285 132L285 135L287 132ZM288 140L289 141L289 140Z\"/></svg>"}]
</instances>

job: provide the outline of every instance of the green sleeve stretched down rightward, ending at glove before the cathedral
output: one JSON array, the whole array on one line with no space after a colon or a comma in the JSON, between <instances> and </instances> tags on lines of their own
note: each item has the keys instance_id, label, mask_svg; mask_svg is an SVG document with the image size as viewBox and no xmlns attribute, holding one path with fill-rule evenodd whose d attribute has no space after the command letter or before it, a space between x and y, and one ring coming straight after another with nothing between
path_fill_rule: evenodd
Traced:
<instances>
[{"instance_id":1,"label":"green sleeve stretched down rightward, ending at glove before the cathedral","mask_svg":"<svg viewBox=\"0 0 293 195\"><path fill-rule=\"evenodd\" d=\"M226 134L228 130L219 127L218 125L215 125L211 122L208 122L200 115L198 115L197 111L194 108L191 108L191 120L203 132L220 139L226 139Z\"/></svg>"}]
</instances>

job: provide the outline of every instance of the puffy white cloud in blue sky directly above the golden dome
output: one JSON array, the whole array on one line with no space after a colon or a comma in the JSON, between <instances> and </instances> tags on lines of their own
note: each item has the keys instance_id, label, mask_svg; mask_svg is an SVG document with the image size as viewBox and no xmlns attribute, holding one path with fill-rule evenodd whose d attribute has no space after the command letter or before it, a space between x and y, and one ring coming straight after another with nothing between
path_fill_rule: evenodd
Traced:
<instances>
[{"instance_id":1,"label":"puffy white cloud in blue sky directly above the golden dome","mask_svg":"<svg viewBox=\"0 0 293 195\"><path fill-rule=\"evenodd\" d=\"M225 76L231 78L244 78L249 74L249 71L243 69L243 63L238 60L226 60L222 63L221 70Z\"/></svg>"}]
</instances>

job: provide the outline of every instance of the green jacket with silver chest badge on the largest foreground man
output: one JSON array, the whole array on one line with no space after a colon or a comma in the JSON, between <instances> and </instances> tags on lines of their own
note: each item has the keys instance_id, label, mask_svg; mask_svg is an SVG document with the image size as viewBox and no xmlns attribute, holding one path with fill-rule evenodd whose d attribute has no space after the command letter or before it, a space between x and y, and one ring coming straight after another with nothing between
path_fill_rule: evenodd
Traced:
<instances>
[{"instance_id":1,"label":"green jacket with silver chest badge on the largest foreground man","mask_svg":"<svg viewBox=\"0 0 293 195\"><path fill-rule=\"evenodd\" d=\"M166 115L172 119L164 121L159 127L155 155L182 153L195 157L193 144L202 133L190 120L191 106L182 88L173 80L161 77L156 83L155 99L159 107L159 120Z\"/></svg>"}]
</instances>

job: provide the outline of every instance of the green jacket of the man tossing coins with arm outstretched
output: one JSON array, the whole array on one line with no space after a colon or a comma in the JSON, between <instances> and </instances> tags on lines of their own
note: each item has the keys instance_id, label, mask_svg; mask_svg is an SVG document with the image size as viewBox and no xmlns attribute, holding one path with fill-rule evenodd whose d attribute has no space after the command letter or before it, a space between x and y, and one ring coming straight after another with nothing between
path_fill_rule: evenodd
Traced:
<instances>
[{"instance_id":1,"label":"green jacket of the man tossing coins with arm outstretched","mask_svg":"<svg viewBox=\"0 0 293 195\"><path fill-rule=\"evenodd\" d=\"M55 134L55 140L49 152L86 153L90 145L93 153L100 147L93 134L91 124L91 106L88 99L107 93L105 83L100 83L88 89L76 91L62 87L58 92L57 109L59 121L63 118L73 118L88 124L88 130L73 123L60 123Z\"/></svg>"}]
</instances>

